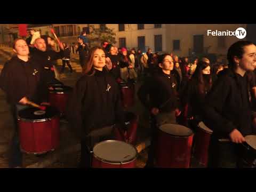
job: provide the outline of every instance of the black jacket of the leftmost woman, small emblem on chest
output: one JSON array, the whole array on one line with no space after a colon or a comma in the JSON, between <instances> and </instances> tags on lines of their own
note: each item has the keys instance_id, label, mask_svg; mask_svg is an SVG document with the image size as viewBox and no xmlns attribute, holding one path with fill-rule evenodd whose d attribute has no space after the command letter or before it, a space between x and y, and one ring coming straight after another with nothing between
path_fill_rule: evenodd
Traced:
<instances>
[{"instance_id":1,"label":"black jacket of the leftmost woman, small emblem on chest","mask_svg":"<svg viewBox=\"0 0 256 192\"><path fill-rule=\"evenodd\" d=\"M44 70L37 63L14 56L7 61L0 75L0 88L6 93L7 102L15 105L23 97L40 103L46 101L47 87Z\"/></svg>"}]
</instances>

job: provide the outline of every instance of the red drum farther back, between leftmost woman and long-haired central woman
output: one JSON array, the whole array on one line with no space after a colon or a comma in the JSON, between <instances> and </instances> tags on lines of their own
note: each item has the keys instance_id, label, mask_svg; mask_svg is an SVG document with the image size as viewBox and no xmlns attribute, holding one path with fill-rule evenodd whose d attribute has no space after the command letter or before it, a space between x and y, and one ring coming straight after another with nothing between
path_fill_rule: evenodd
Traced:
<instances>
[{"instance_id":1,"label":"red drum farther back, between leftmost woman and long-haired central woman","mask_svg":"<svg viewBox=\"0 0 256 192\"><path fill-rule=\"evenodd\" d=\"M64 115L68 98L73 88L65 85L51 85L54 90L49 90L49 102L51 106L60 111L60 115Z\"/></svg>"}]
</instances>

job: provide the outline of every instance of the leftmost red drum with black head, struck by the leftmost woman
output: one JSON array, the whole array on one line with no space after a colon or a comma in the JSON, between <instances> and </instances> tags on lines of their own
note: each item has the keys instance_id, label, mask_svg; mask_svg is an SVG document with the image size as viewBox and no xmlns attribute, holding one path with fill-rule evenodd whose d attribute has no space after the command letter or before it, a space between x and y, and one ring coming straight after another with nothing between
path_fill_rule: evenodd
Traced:
<instances>
[{"instance_id":1,"label":"leftmost red drum with black head, struck by the leftmost woman","mask_svg":"<svg viewBox=\"0 0 256 192\"><path fill-rule=\"evenodd\" d=\"M43 154L59 146L60 119L57 109L28 108L19 111L20 147L25 153Z\"/></svg>"}]
</instances>

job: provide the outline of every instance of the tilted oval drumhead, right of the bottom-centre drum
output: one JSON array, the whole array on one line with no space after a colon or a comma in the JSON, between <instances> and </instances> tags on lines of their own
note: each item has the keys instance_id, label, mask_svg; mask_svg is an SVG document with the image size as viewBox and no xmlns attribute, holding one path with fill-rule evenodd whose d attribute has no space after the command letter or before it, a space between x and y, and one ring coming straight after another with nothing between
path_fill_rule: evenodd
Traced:
<instances>
[{"instance_id":1,"label":"tilted oval drumhead, right of the bottom-centre drum","mask_svg":"<svg viewBox=\"0 0 256 192\"><path fill-rule=\"evenodd\" d=\"M165 133L181 137L186 137L193 134L193 131L190 130L188 127L177 124L163 124L159 126L159 129Z\"/></svg>"}]
</instances>

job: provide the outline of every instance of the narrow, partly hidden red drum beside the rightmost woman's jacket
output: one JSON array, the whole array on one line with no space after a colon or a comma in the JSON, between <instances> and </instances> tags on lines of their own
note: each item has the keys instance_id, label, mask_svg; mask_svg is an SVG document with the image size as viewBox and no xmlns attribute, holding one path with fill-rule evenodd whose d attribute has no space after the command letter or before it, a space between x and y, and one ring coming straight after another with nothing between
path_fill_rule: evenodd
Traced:
<instances>
[{"instance_id":1,"label":"narrow, partly hidden red drum beside the rightmost woman's jacket","mask_svg":"<svg viewBox=\"0 0 256 192\"><path fill-rule=\"evenodd\" d=\"M200 122L197 126L194 156L204 166L207 166L208 163L208 149L212 132L203 122Z\"/></svg>"}]
</instances>

